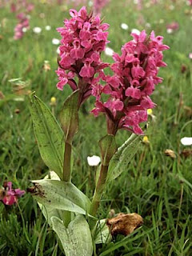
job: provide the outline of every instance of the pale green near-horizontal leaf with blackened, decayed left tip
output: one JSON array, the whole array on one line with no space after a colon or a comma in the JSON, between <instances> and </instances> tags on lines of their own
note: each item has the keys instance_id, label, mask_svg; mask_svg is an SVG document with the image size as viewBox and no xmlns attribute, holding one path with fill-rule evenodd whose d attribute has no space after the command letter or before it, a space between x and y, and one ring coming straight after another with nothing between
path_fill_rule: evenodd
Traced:
<instances>
[{"instance_id":1,"label":"pale green near-horizontal leaf with blackened, decayed left tip","mask_svg":"<svg viewBox=\"0 0 192 256\"><path fill-rule=\"evenodd\" d=\"M34 188L32 191L30 189L31 194L43 206L78 214L88 212L90 207L89 198L71 182L43 179L32 182Z\"/></svg>"}]
</instances>

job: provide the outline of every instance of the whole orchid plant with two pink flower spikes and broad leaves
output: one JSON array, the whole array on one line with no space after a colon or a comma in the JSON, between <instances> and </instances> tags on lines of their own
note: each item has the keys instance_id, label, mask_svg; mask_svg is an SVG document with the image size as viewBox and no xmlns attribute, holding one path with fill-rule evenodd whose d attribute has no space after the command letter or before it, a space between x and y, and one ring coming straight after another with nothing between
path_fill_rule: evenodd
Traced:
<instances>
[{"instance_id":1,"label":"whole orchid plant with two pink flower spikes and broad leaves","mask_svg":"<svg viewBox=\"0 0 192 256\"><path fill-rule=\"evenodd\" d=\"M72 93L62 106L60 124L49 108L34 94L30 97L30 112L34 134L42 160L50 168L50 174L42 180L33 181L30 193L47 222L58 234L67 256L96 255L95 245L110 241L110 234L130 234L142 223L138 214L130 214L134 227L126 221L124 230L114 221L98 221L98 206L106 185L126 171L131 158L138 150L143 134L140 123L146 122L147 110L154 108L150 99L154 87L162 82L158 70L166 66L162 61L162 37L150 36L143 30L132 34L133 40L122 46L122 54L114 54L114 63L102 62L101 54L106 48L109 25L99 16L86 11L70 10L70 19L58 28L62 36L58 59L58 90L70 85ZM110 69L112 75L105 73ZM73 140L78 132L78 111L87 98L93 95L95 106L91 111L106 116L107 134L99 141L102 162L95 182L93 198L88 198L71 182L73 169ZM105 100L104 100L105 99ZM126 129L133 134L118 147L115 136ZM119 218L126 218L120 214ZM135 217L136 216L136 217ZM138 217L139 216L139 217Z\"/></svg>"}]
</instances>

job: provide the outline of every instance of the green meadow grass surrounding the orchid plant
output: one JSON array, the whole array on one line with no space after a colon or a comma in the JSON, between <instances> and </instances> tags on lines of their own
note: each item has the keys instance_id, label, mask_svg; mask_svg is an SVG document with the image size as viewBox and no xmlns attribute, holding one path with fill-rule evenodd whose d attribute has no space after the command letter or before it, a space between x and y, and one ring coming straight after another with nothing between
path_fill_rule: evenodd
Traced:
<instances>
[{"instance_id":1,"label":"green meadow grass surrounding the orchid plant","mask_svg":"<svg viewBox=\"0 0 192 256\"><path fill-rule=\"evenodd\" d=\"M118 236L115 242L98 248L101 256L128 255L191 255L192 254L192 175L191 156L183 158L180 153L186 149L180 139L191 136L191 114L187 115L185 106L191 106L191 70L192 62L188 54L191 45L191 14L186 15L185 1L177 1L174 10L169 10L172 1L163 1L158 6L144 8L139 14L132 1L111 0L103 10L105 22L110 23L109 46L120 53L122 44L130 40L130 30L122 30L120 25L126 22L130 29L145 28L146 22L156 34L164 36L164 42L170 46L165 53L168 67L161 70L164 78L157 86L153 100L157 103L154 110L156 122L149 122L147 135L150 145L142 145L127 172L107 187L100 206L99 218L106 218L110 209L118 212L137 212L144 218L144 225L135 234L123 238ZM147 2L147 1L144 1ZM69 6L68 6L69 7ZM30 26L42 27L37 35L30 29L22 40L14 41L13 30L16 24L14 14L8 8L0 9L0 90L5 95L0 100L0 184L10 180L14 187L25 189L31 179L43 178L48 170L43 164L35 142L28 98L15 101L12 78L29 81L28 90L36 91L38 97L49 105L52 96L57 98L55 115L62 102L70 94L66 86L63 92L55 87L57 75L57 46L52 38L59 38L56 27L62 26L64 18L69 17L68 7L49 6L35 2L31 13ZM44 13L45 18L39 14ZM145 22L138 24L143 15ZM160 19L164 23L160 24ZM179 30L166 34L166 24L179 22ZM51 31L44 27L50 25ZM110 57L103 55L106 61ZM51 70L42 70L44 60L49 60ZM181 66L186 72L181 73ZM179 99L182 95L182 104ZM98 140L106 134L103 117L94 118L89 114L94 98L90 98L80 113L80 130L74 141L73 182L78 188L92 196L94 190L95 169L87 165L86 157L99 154ZM19 114L15 113L19 109ZM118 132L120 146L129 137L127 132ZM191 149L191 147L187 147ZM174 150L177 158L165 156L166 149ZM91 187L91 190L90 190ZM38 209L37 202L26 194L19 200L18 206L0 204L0 255L62 255L54 232L46 224ZM79 255L81 256L81 255Z\"/></svg>"}]
</instances>

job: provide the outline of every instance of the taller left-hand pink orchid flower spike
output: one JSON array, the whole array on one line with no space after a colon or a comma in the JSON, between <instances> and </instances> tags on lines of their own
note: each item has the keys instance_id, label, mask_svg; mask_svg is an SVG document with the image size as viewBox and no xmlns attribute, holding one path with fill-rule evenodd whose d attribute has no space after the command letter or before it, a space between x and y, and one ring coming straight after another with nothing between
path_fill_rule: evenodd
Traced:
<instances>
[{"instance_id":1,"label":"taller left-hand pink orchid flower spike","mask_svg":"<svg viewBox=\"0 0 192 256\"><path fill-rule=\"evenodd\" d=\"M91 94L91 85L102 77L102 69L108 66L100 55L105 50L109 25L101 23L98 16L87 14L86 7L70 10L70 20L66 19L64 27L59 27L62 36L58 74L59 90L68 83L72 90L80 90L79 106ZM97 78L94 76L97 74ZM78 77L78 84L74 77Z\"/></svg>"}]
</instances>

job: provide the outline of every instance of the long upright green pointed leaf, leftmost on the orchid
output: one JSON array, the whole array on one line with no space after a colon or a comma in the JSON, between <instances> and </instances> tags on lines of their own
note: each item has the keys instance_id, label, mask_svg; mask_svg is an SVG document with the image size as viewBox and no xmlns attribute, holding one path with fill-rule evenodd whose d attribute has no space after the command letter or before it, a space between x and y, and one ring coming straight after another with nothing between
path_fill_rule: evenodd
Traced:
<instances>
[{"instance_id":1,"label":"long upright green pointed leaf, leftmost on the orchid","mask_svg":"<svg viewBox=\"0 0 192 256\"><path fill-rule=\"evenodd\" d=\"M34 94L30 96L30 113L42 160L62 178L64 134L49 108Z\"/></svg>"}]
</instances>

